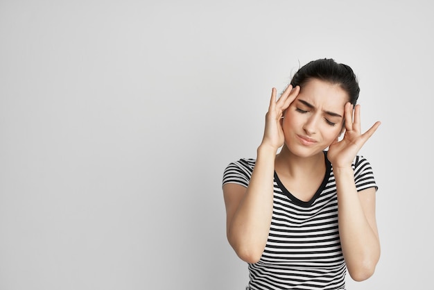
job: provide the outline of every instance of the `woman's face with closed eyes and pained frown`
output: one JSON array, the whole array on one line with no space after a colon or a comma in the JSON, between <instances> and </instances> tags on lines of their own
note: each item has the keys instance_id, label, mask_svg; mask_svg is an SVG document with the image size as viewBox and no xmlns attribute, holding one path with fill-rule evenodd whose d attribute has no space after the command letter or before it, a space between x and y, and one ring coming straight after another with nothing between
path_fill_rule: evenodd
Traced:
<instances>
[{"instance_id":1,"label":"woman's face with closed eyes and pained frown","mask_svg":"<svg viewBox=\"0 0 434 290\"><path fill-rule=\"evenodd\" d=\"M339 85L313 78L300 90L284 114L285 144L295 155L323 151L342 132L349 96Z\"/></svg>"}]
</instances>

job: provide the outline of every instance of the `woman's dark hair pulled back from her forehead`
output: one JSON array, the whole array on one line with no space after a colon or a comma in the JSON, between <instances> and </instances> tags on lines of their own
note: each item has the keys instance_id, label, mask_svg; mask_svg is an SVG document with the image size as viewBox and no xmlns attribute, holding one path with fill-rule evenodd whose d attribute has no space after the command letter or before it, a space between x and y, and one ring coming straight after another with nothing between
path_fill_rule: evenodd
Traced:
<instances>
[{"instance_id":1,"label":"woman's dark hair pulled back from her forehead","mask_svg":"<svg viewBox=\"0 0 434 290\"><path fill-rule=\"evenodd\" d=\"M300 67L290 84L293 87L296 85L303 87L312 78L340 85L347 92L349 102L356 105L360 87L358 87L358 80L351 67L335 62L331 58L313 60Z\"/></svg>"}]
</instances>

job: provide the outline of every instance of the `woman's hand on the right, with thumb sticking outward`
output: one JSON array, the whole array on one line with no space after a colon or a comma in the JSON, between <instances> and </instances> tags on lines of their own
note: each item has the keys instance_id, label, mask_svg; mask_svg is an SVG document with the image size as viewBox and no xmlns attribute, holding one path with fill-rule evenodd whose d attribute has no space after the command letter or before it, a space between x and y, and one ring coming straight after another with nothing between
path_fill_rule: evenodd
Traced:
<instances>
[{"instance_id":1,"label":"woman's hand on the right, with thumb sticking outward","mask_svg":"<svg viewBox=\"0 0 434 290\"><path fill-rule=\"evenodd\" d=\"M360 105L356 105L356 108L354 108L354 117L352 109L353 105L351 105L351 103L345 104L345 135L340 141L336 138L329 146L327 153L327 157L335 169L351 166L358 151L381 124L377 121L369 130L361 134Z\"/></svg>"}]
</instances>

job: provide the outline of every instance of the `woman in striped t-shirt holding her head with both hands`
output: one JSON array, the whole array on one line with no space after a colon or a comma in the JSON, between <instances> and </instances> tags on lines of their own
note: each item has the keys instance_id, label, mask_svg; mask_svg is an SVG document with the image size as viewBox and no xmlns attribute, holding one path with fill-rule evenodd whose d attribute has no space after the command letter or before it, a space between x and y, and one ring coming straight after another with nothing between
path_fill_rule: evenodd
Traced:
<instances>
[{"instance_id":1,"label":"woman in striped t-shirt holding her head with both hands","mask_svg":"<svg viewBox=\"0 0 434 290\"><path fill-rule=\"evenodd\" d=\"M357 153L380 122L361 133L359 92L347 65L309 62L278 100L272 89L257 157L225 169L227 239L248 262L247 289L344 289L347 271L374 273L377 187Z\"/></svg>"}]
</instances>

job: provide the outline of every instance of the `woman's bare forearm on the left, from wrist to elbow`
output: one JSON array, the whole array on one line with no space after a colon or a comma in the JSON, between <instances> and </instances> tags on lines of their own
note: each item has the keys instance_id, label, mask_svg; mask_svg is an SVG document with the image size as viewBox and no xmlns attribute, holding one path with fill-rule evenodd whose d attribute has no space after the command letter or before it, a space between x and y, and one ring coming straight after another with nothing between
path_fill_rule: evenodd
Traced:
<instances>
[{"instance_id":1,"label":"woman's bare forearm on the left, from wrist to elbow","mask_svg":"<svg viewBox=\"0 0 434 290\"><path fill-rule=\"evenodd\" d=\"M276 151L259 146L248 189L228 229L228 239L238 256L256 262L268 239L272 218Z\"/></svg>"}]
</instances>

